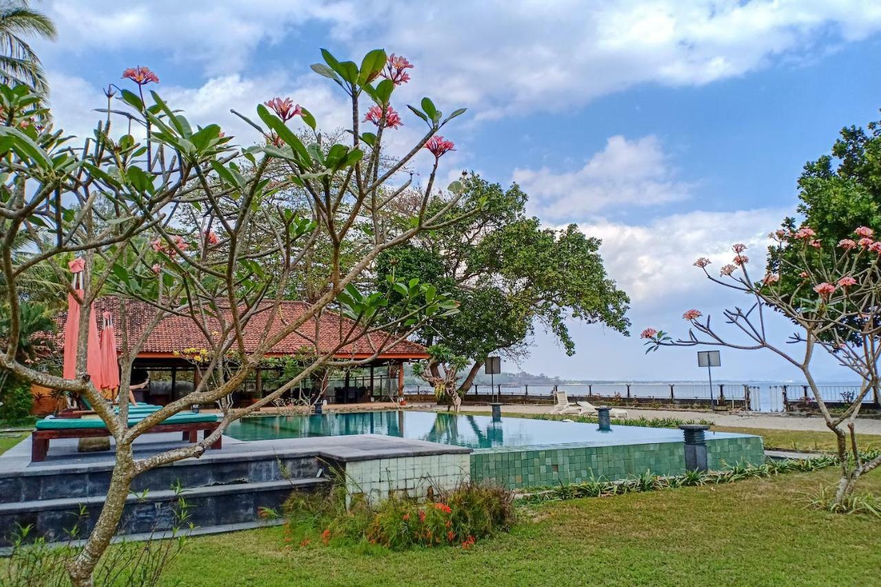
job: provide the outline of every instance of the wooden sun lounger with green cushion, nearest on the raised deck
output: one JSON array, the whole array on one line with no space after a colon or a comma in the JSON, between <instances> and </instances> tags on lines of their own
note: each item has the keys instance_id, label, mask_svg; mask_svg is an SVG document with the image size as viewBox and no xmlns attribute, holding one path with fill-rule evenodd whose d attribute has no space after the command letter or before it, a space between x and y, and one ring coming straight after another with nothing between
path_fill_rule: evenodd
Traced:
<instances>
[{"instance_id":1,"label":"wooden sun lounger with green cushion, nearest on the raised deck","mask_svg":"<svg viewBox=\"0 0 881 587\"><path fill-rule=\"evenodd\" d=\"M129 426L143 420L147 413L130 414ZM46 458L49 441L56 438L85 438L91 436L109 436L107 425L99 418L46 418L37 420L37 429L31 435L31 461L39 462ZM204 430L203 438L210 435L218 427L218 417L213 413L180 412L162 420L147 430L146 434L159 432L182 432L183 440L198 442L199 430ZM220 439L211 445L212 449L221 448Z\"/></svg>"}]
</instances>

